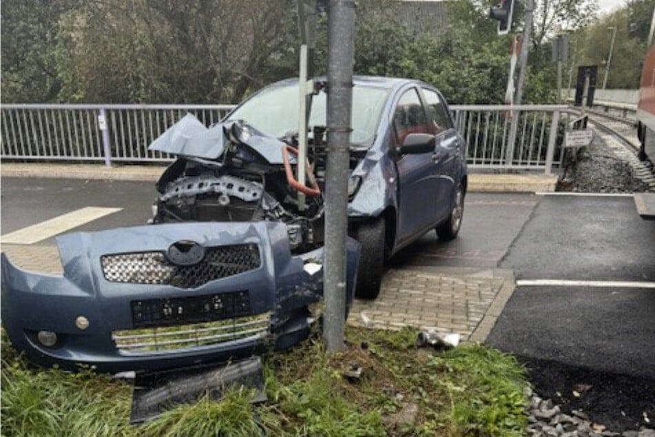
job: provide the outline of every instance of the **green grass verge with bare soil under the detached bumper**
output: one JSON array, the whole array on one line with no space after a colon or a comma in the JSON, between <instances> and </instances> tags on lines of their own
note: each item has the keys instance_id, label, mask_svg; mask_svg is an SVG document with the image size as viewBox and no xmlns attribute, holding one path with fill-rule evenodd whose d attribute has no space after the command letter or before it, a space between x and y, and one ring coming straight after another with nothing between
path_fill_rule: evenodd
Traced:
<instances>
[{"instance_id":1,"label":"green grass verge with bare soil under the detached bumper","mask_svg":"<svg viewBox=\"0 0 655 437\"><path fill-rule=\"evenodd\" d=\"M132 387L85 370L32 367L2 332L3 436L522 436L523 368L512 356L464 343L417 349L416 333L348 329L326 354L305 341L264 356L269 400L245 389L203 396L142 425L129 425ZM343 376L362 367L354 381Z\"/></svg>"}]
</instances>

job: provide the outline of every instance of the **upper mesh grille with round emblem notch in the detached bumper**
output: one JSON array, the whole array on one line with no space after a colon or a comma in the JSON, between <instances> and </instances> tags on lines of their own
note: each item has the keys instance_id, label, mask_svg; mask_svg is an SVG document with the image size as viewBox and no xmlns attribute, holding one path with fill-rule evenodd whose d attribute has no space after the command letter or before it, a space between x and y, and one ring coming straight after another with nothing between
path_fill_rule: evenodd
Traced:
<instances>
[{"instance_id":1,"label":"upper mesh grille with round emblem notch in the detached bumper","mask_svg":"<svg viewBox=\"0 0 655 437\"><path fill-rule=\"evenodd\" d=\"M257 245L207 247L195 265L175 265L164 252L132 252L101 256L107 281L195 288L209 281L255 270L261 265Z\"/></svg>"}]
</instances>

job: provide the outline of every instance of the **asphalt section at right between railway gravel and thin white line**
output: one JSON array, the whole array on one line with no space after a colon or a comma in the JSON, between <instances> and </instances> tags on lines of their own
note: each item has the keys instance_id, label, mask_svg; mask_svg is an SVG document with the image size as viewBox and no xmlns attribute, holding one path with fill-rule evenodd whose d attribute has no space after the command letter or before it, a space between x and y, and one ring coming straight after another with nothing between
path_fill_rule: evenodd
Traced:
<instances>
[{"instance_id":1,"label":"asphalt section at right between railway gravel and thin white line","mask_svg":"<svg viewBox=\"0 0 655 437\"><path fill-rule=\"evenodd\" d=\"M519 279L655 281L655 223L632 196L544 196L501 267Z\"/></svg>"}]
</instances>

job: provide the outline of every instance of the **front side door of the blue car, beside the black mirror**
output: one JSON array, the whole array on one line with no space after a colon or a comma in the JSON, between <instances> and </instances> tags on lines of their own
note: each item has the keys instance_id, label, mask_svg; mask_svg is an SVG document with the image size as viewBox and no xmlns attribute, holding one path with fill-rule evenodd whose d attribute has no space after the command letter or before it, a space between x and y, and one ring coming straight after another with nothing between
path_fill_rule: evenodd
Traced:
<instances>
[{"instance_id":1,"label":"front side door of the blue car, beside the black mirror","mask_svg":"<svg viewBox=\"0 0 655 437\"><path fill-rule=\"evenodd\" d=\"M402 145L408 134L430 134L428 118L417 88L399 97L393 115L395 144ZM437 169L433 152L397 156L398 226L397 243L428 229L437 214Z\"/></svg>"}]
</instances>

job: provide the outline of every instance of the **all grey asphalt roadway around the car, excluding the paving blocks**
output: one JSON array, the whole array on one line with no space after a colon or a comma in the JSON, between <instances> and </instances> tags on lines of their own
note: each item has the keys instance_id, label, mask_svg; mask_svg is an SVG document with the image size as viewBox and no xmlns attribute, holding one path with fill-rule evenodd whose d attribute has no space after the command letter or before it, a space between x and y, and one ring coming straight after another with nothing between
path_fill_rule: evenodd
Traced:
<instances>
[{"instance_id":1,"label":"all grey asphalt roadway around the car, excluding the paving blocks","mask_svg":"<svg viewBox=\"0 0 655 437\"><path fill-rule=\"evenodd\" d=\"M156 196L145 182L0 183L3 235L85 206L122 210L73 230L140 225ZM639 219L630 197L471 193L455 241L430 232L392 265L503 267L519 280L652 283L655 221ZM610 429L643 425L644 411L655 419L655 289L519 282L488 343L519 356L541 394L596 414ZM574 398L574 383L594 388Z\"/></svg>"}]
</instances>

